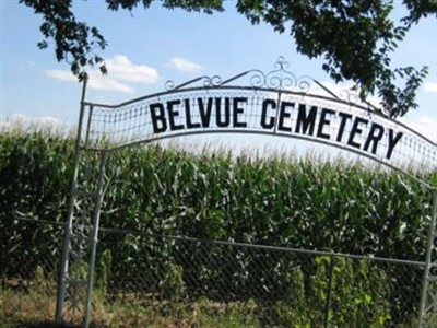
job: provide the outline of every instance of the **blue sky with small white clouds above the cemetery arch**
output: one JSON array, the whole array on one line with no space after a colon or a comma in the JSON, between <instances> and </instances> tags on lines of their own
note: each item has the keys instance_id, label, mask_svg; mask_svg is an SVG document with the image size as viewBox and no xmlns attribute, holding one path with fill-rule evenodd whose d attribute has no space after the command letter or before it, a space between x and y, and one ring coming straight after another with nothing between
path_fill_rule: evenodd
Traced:
<instances>
[{"instance_id":1,"label":"blue sky with small white clouds above the cemetery arch","mask_svg":"<svg viewBox=\"0 0 437 328\"><path fill-rule=\"evenodd\" d=\"M81 84L68 63L57 62L52 46L37 48L43 39L42 19L17 2L0 0L0 125L21 119L74 126ZM402 12L399 4L395 8L393 15L399 17ZM265 24L252 25L236 12L233 0L226 1L224 13L213 15L158 4L110 12L97 0L74 1L74 12L78 20L97 26L109 44L99 52L109 74L90 72L90 102L117 104L164 91L167 80L179 84L199 75L226 79L249 69L269 72L279 56L295 75L310 75L338 89L322 71L320 59L297 54L287 33L279 34ZM394 66L429 67L417 95L418 108L402 120L437 142L437 20L425 19L413 26L392 60ZM241 143L281 144L268 137L250 138Z\"/></svg>"}]
</instances>

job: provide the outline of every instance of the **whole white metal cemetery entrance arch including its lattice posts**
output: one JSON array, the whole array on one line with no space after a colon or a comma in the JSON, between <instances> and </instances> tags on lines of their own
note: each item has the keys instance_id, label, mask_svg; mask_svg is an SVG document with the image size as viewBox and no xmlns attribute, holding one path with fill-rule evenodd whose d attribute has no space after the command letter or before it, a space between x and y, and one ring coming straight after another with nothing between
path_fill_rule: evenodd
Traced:
<instances>
[{"instance_id":1,"label":"whole white metal cemetery entrance arch including its lattice posts","mask_svg":"<svg viewBox=\"0 0 437 328\"><path fill-rule=\"evenodd\" d=\"M61 273L58 324L90 323L105 163L111 151L179 136L258 133L335 147L404 174L436 169L437 145L389 119L356 95L336 95L318 81L296 78L280 57L275 70L249 70L222 80L200 77L119 105L85 99L83 84ZM86 157L84 156L86 154ZM418 323L437 320L437 187L426 249ZM425 220L425 218L424 218ZM435 321L434 321L435 323Z\"/></svg>"}]
</instances>

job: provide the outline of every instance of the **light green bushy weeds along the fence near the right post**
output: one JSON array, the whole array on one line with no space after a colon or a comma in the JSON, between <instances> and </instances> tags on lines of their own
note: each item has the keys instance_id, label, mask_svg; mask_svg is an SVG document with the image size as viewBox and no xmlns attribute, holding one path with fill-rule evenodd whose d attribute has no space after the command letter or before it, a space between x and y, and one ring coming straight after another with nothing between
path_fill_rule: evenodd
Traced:
<instances>
[{"instance_id":1,"label":"light green bushy weeds along the fence near the right post","mask_svg":"<svg viewBox=\"0 0 437 328\"><path fill-rule=\"evenodd\" d=\"M282 327L323 327L328 291L332 327L385 327L390 323L389 277L365 260L335 258L329 282L331 257L317 257L317 269L305 286L300 269L293 272L288 296L275 303L274 316Z\"/></svg>"}]
</instances>

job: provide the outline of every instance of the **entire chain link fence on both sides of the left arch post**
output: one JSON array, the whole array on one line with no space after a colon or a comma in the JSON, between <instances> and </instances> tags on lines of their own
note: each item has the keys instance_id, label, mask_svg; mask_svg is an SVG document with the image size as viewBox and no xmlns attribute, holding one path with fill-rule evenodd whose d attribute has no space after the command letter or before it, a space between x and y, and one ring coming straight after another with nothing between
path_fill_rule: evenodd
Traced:
<instances>
[{"instance_id":1,"label":"entire chain link fence on both sides of the left arch post","mask_svg":"<svg viewBox=\"0 0 437 328\"><path fill-rule=\"evenodd\" d=\"M10 220L2 227L0 321L48 325L63 224ZM103 327L414 327L423 266L101 229L93 321Z\"/></svg>"}]
</instances>

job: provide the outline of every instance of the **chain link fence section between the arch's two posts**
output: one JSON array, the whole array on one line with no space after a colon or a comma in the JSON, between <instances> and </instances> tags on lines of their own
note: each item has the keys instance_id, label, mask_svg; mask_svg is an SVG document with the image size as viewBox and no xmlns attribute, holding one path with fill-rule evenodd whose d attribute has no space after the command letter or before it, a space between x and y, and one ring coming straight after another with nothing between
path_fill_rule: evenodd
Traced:
<instances>
[{"instance_id":1,"label":"chain link fence section between the arch's two posts","mask_svg":"<svg viewBox=\"0 0 437 328\"><path fill-rule=\"evenodd\" d=\"M238 307L260 327L416 323L423 263L120 231L102 237L101 245L118 241L99 253L108 295L155 315L168 306L197 307L200 317Z\"/></svg>"}]
</instances>

